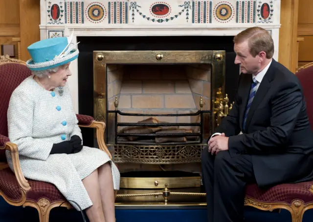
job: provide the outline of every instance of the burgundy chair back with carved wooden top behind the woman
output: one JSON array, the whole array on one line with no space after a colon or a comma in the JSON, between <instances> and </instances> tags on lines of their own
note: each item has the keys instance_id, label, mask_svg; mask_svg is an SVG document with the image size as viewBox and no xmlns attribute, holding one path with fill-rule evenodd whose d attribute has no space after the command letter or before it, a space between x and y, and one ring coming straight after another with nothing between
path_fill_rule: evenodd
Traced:
<instances>
[{"instance_id":1,"label":"burgundy chair back with carved wooden top behind the woman","mask_svg":"<svg viewBox=\"0 0 313 222\"><path fill-rule=\"evenodd\" d=\"M12 92L30 75L25 62L0 57L0 135L8 136L7 110ZM0 150L0 161L6 161L5 150Z\"/></svg>"}]
</instances>

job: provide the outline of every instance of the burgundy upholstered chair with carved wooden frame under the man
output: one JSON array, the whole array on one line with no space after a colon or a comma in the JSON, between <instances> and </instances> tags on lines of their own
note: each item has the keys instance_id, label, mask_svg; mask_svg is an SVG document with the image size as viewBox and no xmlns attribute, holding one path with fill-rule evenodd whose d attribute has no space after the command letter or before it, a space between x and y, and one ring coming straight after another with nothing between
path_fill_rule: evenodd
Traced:
<instances>
[{"instance_id":1,"label":"burgundy upholstered chair with carved wooden frame under the man","mask_svg":"<svg viewBox=\"0 0 313 222\"><path fill-rule=\"evenodd\" d=\"M303 87L313 129L313 62L299 68L296 76ZM302 222L304 212L313 208L313 181L279 184L267 190L250 184L246 187L245 205L269 211L286 209L291 213L292 222Z\"/></svg>"}]
</instances>

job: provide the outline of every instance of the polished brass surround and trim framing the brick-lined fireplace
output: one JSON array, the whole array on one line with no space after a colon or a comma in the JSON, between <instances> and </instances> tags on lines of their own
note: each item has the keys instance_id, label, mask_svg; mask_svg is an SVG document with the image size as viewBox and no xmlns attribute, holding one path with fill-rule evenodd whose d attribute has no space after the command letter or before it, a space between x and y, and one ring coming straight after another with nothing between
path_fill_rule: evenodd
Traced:
<instances>
[{"instance_id":1,"label":"polished brass surround and trim framing the brick-lined fireplace","mask_svg":"<svg viewBox=\"0 0 313 222\"><path fill-rule=\"evenodd\" d=\"M106 133L114 127L114 114L107 109L107 65L109 64L210 64L211 65L211 117L207 118L211 130L219 124L220 102L224 99L224 67L225 51L94 51L93 78L94 78L94 118L106 123ZM204 118L205 119L205 118ZM210 133L210 132L207 132ZM106 135L107 136L107 135ZM188 145L131 145L114 144L108 141L108 147L113 148L115 163L136 162L149 164L173 164L201 161L201 150L206 143ZM110 149L109 148L109 149ZM155 160L144 158L147 151L151 151ZM172 152L169 150L173 150ZM130 152L131 151L131 152ZM133 152L135 151L135 152ZM125 155L134 153L136 155ZM162 157L161 157L161 156ZM170 157L171 156L171 157ZM138 179L140 179L138 181ZM186 178L185 178L186 179ZM182 178L121 178L121 188L164 188L169 187L199 187L200 177L189 178L189 182L182 184ZM188 179L187 179L188 180ZM157 182L157 183L156 183ZM159 184L159 185L156 185ZM165 185L166 184L166 185ZM173 193L175 195L175 192ZM118 194L123 197L125 194ZM151 195L151 194L150 194ZM179 193L178 195L203 196L203 193ZM127 196L127 195L126 195ZM144 197L145 194L133 194ZM163 193L164 196L164 193ZM165 198L165 197L164 197ZM166 198L167 202L167 198Z\"/></svg>"}]
</instances>

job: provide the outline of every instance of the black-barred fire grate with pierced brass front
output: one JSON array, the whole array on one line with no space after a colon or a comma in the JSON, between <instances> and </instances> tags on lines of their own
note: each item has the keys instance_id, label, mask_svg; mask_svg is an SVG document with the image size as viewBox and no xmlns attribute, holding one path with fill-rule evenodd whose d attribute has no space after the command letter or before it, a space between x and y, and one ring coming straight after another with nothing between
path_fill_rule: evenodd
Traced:
<instances>
[{"instance_id":1,"label":"black-barred fire grate with pierced brass front","mask_svg":"<svg viewBox=\"0 0 313 222\"><path fill-rule=\"evenodd\" d=\"M138 114L124 113L119 110L108 110L114 118L115 144L108 144L114 147L113 159L116 163L135 162L150 164L172 164L172 163L190 163L201 161L201 150L205 147L206 141L203 141L204 128L206 132L211 132L211 124L204 124L211 117L210 110L198 110L195 113L186 114ZM199 122L190 123L128 123L118 122L118 115L121 116L145 116L145 117L168 117L168 116L199 116ZM197 132L193 133L119 133L118 127L171 127L171 126L194 126L199 127ZM119 138L140 137L138 141L119 140ZM162 137L197 137L195 141L187 142L162 142L156 143L155 138ZM142 139L143 138L143 139Z\"/></svg>"}]
</instances>

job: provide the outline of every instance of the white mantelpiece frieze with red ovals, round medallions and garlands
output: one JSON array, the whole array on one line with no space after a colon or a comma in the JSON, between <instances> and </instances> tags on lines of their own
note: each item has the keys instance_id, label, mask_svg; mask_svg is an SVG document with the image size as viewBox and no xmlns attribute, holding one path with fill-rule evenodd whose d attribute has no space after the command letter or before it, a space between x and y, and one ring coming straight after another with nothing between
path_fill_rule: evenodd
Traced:
<instances>
[{"instance_id":1,"label":"white mantelpiece frieze with red ovals, round medallions and garlands","mask_svg":"<svg viewBox=\"0 0 313 222\"><path fill-rule=\"evenodd\" d=\"M46 25L275 23L280 0L46 0ZM279 22L276 22L279 24Z\"/></svg>"}]
</instances>

